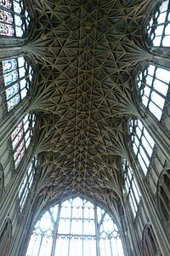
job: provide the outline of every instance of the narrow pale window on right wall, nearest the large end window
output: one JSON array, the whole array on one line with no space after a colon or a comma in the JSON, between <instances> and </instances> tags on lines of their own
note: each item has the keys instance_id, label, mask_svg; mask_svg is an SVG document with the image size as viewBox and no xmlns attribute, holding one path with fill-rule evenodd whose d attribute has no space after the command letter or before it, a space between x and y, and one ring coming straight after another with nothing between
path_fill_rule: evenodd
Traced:
<instances>
[{"instance_id":1,"label":"narrow pale window on right wall, nearest the large end window","mask_svg":"<svg viewBox=\"0 0 170 256\"><path fill-rule=\"evenodd\" d=\"M138 211L138 207L139 207L139 201L140 201L139 187L133 175L133 170L129 166L127 160L125 159L122 160L122 169L124 172L124 181L125 181L127 199L130 202L130 206L133 211L133 217L135 218L136 212Z\"/></svg>"}]
</instances>

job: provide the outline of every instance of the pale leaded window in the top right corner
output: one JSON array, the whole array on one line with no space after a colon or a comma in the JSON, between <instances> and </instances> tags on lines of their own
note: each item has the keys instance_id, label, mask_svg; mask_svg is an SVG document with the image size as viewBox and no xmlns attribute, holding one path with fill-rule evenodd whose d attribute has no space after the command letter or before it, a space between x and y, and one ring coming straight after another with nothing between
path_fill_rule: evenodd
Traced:
<instances>
[{"instance_id":1,"label":"pale leaded window in the top right corner","mask_svg":"<svg viewBox=\"0 0 170 256\"><path fill-rule=\"evenodd\" d=\"M153 46L170 46L170 1L160 1L146 27Z\"/></svg>"}]
</instances>

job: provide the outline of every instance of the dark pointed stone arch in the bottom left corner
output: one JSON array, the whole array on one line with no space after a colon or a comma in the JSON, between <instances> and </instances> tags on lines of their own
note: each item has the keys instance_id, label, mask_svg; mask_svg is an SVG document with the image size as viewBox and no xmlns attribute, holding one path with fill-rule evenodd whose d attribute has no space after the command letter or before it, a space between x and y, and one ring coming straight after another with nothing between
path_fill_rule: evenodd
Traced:
<instances>
[{"instance_id":1,"label":"dark pointed stone arch in the bottom left corner","mask_svg":"<svg viewBox=\"0 0 170 256\"><path fill-rule=\"evenodd\" d=\"M0 231L0 255L8 256L10 244L12 239L12 222L7 218Z\"/></svg>"}]
</instances>

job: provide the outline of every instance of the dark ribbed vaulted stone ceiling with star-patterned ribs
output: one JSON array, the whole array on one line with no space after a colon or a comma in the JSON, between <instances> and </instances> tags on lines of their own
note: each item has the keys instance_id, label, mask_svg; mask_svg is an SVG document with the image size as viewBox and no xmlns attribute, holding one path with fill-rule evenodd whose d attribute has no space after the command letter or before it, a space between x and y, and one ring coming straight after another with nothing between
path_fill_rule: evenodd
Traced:
<instances>
[{"instance_id":1,"label":"dark ribbed vaulted stone ceiling with star-patterned ribs","mask_svg":"<svg viewBox=\"0 0 170 256\"><path fill-rule=\"evenodd\" d=\"M132 77L151 58L141 27L152 1L32 2L36 23L23 49L39 70L30 104L39 114L39 190L111 206L122 197L124 127L139 116Z\"/></svg>"}]
</instances>

